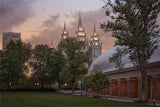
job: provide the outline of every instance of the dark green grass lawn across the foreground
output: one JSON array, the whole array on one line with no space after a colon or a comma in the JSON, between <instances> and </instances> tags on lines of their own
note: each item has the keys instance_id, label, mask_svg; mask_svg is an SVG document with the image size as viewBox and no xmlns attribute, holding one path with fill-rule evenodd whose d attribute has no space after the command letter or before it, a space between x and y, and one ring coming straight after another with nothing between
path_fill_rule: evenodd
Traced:
<instances>
[{"instance_id":1,"label":"dark green grass lawn across the foreground","mask_svg":"<svg viewBox=\"0 0 160 107\"><path fill-rule=\"evenodd\" d=\"M0 92L0 107L151 107L54 92Z\"/></svg>"}]
</instances>

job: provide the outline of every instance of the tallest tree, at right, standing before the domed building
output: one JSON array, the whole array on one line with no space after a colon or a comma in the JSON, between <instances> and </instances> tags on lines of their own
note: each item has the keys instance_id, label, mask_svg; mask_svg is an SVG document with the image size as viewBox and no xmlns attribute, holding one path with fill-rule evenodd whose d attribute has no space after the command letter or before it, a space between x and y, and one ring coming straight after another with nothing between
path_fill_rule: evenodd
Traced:
<instances>
[{"instance_id":1,"label":"tallest tree, at right, standing before the domed building","mask_svg":"<svg viewBox=\"0 0 160 107\"><path fill-rule=\"evenodd\" d=\"M111 0L104 6L106 15L111 18L101 28L107 32L112 31L116 38L116 45L123 54L130 54L131 60L138 61L142 77L141 101L147 102L147 60L157 48L156 38L159 28L156 19L160 12L159 0ZM135 53L135 54L134 54Z\"/></svg>"}]
</instances>

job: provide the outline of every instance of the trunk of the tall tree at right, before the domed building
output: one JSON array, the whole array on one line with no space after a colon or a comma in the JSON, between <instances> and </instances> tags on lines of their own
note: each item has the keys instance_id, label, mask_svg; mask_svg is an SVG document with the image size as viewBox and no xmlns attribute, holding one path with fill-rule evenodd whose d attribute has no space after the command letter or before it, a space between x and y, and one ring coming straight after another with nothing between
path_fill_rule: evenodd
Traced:
<instances>
[{"instance_id":1,"label":"trunk of the tall tree at right, before the domed building","mask_svg":"<svg viewBox=\"0 0 160 107\"><path fill-rule=\"evenodd\" d=\"M138 53L138 60L139 60L139 67L141 71L141 77L142 77L142 92L141 92L141 102L146 103L148 102L148 93L147 93L147 72L145 69L146 60L145 60L145 54L140 52Z\"/></svg>"}]
</instances>

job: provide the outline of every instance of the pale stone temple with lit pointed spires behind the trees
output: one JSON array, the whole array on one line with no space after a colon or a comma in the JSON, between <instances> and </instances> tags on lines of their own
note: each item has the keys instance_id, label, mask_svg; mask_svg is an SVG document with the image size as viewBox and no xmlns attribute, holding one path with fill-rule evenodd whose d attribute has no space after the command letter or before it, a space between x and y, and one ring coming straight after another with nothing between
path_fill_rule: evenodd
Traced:
<instances>
[{"instance_id":1,"label":"pale stone temple with lit pointed spires behind the trees","mask_svg":"<svg viewBox=\"0 0 160 107\"><path fill-rule=\"evenodd\" d=\"M66 29L66 24L64 23L64 29L62 32L62 40L68 38L68 31ZM89 51L91 54L90 60L91 63L101 55L102 52L102 43L100 42L100 38L96 32L96 26L94 24L94 30L93 30L93 35L91 36L90 42L88 42L87 39L87 34L85 32L85 29L82 25L82 19L81 19L81 14L79 14L79 20L78 20L78 26L77 30L75 31L74 37L77 39L77 41L84 41L85 46L82 48L83 52ZM88 66L88 65L87 65Z\"/></svg>"}]
</instances>

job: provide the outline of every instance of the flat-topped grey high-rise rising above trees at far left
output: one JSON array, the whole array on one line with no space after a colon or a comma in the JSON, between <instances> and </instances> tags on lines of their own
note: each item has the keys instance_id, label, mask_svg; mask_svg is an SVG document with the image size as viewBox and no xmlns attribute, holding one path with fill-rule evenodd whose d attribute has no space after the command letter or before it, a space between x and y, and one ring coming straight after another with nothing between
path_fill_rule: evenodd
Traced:
<instances>
[{"instance_id":1,"label":"flat-topped grey high-rise rising above trees at far left","mask_svg":"<svg viewBox=\"0 0 160 107\"><path fill-rule=\"evenodd\" d=\"M10 40L17 41L20 39L21 39L21 33L3 32L2 34L3 48L2 49L5 50Z\"/></svg>"}]
</instances>

